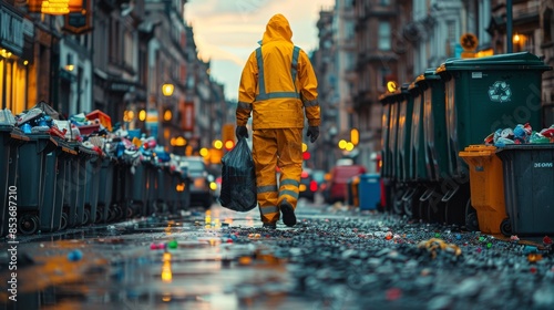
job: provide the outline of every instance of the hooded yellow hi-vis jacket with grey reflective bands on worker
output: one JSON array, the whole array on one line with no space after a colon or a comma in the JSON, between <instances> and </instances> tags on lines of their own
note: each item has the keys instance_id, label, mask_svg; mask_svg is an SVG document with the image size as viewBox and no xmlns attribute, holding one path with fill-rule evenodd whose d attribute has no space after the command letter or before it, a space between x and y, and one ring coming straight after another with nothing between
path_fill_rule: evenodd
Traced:
<instances>
[{"instance_id":1,"label":"hooded yellow hi-vis jacket with grey reflective bands on worker","mask_svg":"<svg viewBox=\"0 0 554 310\"><path fill-rule=\"evenodd\" d=\"M253 130L319 126L317 79L308 55L293 41L288 20L274 16L261 45L246 62L238 89L237 126L253 113Z\"/></svg>"}]
</instances>

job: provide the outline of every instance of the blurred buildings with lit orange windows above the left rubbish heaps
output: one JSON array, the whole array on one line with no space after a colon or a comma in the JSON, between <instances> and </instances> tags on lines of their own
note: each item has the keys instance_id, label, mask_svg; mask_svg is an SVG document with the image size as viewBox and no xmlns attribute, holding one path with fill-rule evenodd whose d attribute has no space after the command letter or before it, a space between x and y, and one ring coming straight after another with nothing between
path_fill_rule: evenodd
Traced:
<instances>
[{"instance_id":1,"label":"blurred buildings with lit orange windows above the left rubbish heaps","mask_svg":"<svg viewBox=\"0 0 554 310\"><path fill-rule=\"evenodd\" d=\"M101 110L115 128L182 154L220 137L223 85L197 58L185 0L83 1L60 16L41 2L0 1L1 108L19 114L43 101L63 117Z\"/></svg>"}]
</instances>

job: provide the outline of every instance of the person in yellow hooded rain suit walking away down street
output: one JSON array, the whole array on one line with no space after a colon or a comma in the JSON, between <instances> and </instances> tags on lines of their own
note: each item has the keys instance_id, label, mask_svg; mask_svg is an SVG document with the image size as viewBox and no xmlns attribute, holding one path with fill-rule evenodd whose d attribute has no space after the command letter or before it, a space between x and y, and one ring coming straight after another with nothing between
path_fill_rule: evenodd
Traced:
<instances>
[{"instance_id":1,"label":"person in yellow hooded rain suit walking away down street","mask_svg":"<svg viewBox=\"0 0 554 310\"><path fill-rule=\"evenodd\" d=\"M307 118L307 136L314 143L321 122L314 68L291 38L288 20L274 16L260 46L243 69L238 89L235 134L248 137L246 124L252 113L257 200L263 226L268 229L277 227L281 214L286 226L296 224L302 131Z\"/></svg>"}]
</instances>

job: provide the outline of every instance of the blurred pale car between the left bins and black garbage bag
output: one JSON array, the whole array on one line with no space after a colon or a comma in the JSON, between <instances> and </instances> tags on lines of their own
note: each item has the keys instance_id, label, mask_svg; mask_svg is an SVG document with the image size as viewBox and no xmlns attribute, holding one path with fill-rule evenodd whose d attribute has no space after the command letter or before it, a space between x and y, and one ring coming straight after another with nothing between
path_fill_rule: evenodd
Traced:
<instances>
[{"instance_id":1,"label":"blurred pale car between the left bins and black garbage bag","mask_svg":"<svg viewBox=\"0 0 554 310\"><path fill-rule=\"evenodd\" d=\"M199 156L182 157L179 167L186 172L191 178L191 206L202 206L208 209L214 203L214 189L211 188L211 182L215 180Z\"/></svg>"}]
</instances>

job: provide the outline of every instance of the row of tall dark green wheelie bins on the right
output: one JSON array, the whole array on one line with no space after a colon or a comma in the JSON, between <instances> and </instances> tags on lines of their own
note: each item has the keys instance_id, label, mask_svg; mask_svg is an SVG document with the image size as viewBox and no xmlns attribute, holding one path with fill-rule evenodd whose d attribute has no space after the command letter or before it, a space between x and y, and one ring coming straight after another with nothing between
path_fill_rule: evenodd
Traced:
<instances>
[{"instance_id":1,"label":"row of tall dark green wheelie bins on the right","mask_svg":"<svg viewBox=\"0 0 554 310\"><path fill-rule=\"evenodd\" d=\"M459 152L499 127L541 127L547 70L529 52L450 59L381 95L386 209L478 229L469 168Z\"/></svg>"}]
</instances>

